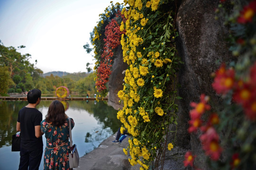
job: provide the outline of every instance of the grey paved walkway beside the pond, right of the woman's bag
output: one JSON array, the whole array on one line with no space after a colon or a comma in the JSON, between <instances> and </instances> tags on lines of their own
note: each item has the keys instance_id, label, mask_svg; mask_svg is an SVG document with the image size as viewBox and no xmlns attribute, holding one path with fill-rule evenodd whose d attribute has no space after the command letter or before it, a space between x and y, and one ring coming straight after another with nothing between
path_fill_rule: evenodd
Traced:
<instances>
[{"instance_id":1,"label":"grey paved walkway beside the pond, right of the woman's bag","mask_svg":"<svg viewBox=\"0 0 256 170\"><path fill-rule=\"evenodd\" d=\"M112 144L111 141L115 140L116 134L105 139L98 148L82 156L79 167L73 170L138 170L138 167L130 165L129 155L123 152L123 148L128 146L129 136L120 144Z\"/></svg>"}]
</instances>

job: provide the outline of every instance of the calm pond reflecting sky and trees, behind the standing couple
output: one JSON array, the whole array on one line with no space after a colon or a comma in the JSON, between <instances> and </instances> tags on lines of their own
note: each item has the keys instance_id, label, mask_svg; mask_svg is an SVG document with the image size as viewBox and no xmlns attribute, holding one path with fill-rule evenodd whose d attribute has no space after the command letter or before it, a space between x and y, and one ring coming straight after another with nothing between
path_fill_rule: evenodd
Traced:
<instances>
[{"instance_id":1,"label":"calm pond reflecting sky and trees, behind the standing couple","mask_svg":"<svg viewBox=\"0 0 256 170\"><path fill-rule=\"evenodd\" d=\"M45 119L52 101L41 101L37 109ZM79 156L91 152L99 144L117 132L121 122L117 110L106 104L107 101L63 101L66 114L73 118L73 143L77 144ZM18 111L27 101L0 101L0 170L18 170L19 152L11 152L11 136L16 133ZM43 136L44 148L46 138ZM43 158L39 170L43 170Z\"/></svg>"}]
</instances>

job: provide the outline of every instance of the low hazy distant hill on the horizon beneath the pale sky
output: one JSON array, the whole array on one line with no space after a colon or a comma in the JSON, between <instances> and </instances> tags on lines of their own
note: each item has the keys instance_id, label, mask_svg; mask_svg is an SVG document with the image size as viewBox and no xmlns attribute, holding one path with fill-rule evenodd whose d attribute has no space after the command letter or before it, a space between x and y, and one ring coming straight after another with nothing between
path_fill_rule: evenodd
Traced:
<instances>
[{"instance_id":1,"label":"low hazy distant hill on the horizon beneath the pale sky","mask_svg":"<svg viewBox=\"0 0 256 170\"><path fill-rule=\"evenodd\" d=\"M63 72L63 71L52 71L52 72L43 74L43 77L51 76L51 74L53 74L54 76L62 77L62 78L71 78L74 81L78 81L78 80L89 75L89 73L85 73L85 72L67 73L67 72Z\"/></svg>"}]
</instances>

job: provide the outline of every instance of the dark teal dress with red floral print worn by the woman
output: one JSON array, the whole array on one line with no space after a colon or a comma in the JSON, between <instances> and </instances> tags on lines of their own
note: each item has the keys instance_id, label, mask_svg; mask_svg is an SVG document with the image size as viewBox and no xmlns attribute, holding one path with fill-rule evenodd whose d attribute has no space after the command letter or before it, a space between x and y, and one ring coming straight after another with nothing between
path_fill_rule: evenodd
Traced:
<instances>
[{"instance_id":1,"label":"dark teal dress with red floral print worn by the woman","mask_svg":"<svg viewBox=\"0 0 256 170\"><path fill-rule=\"evenodd\" d=\"M71 128L74 121L71 119ZM44 155L44 170L70 170L69 168L69 121L55 127L44 119L41 122L41 131L45 133L46 149ZM61 146L60 146L61 145Z\"/></svg>"}]
</instances>

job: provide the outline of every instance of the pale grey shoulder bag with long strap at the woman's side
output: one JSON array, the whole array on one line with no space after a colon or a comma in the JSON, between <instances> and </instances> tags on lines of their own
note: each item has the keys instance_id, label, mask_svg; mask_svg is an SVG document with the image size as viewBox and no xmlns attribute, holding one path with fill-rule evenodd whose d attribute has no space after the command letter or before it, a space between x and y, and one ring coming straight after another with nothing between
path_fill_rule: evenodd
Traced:
<instances>
[{"instance_id":1,"label":"pale grey shoulder bag with long strap at the woman's side","mask_svg":"<svg viewBox=\"0 0 256 170\"><path fill-rule=\"evenodd\" d=\"M70 168L76 168L79 165L79 154L77 152L76 144L72 144L72 133L71 133L71 120L68 118L69 121L69 138L70 138L70 150L71 153L69 153L69 167Z\"/></svg>"}]
</instances>

